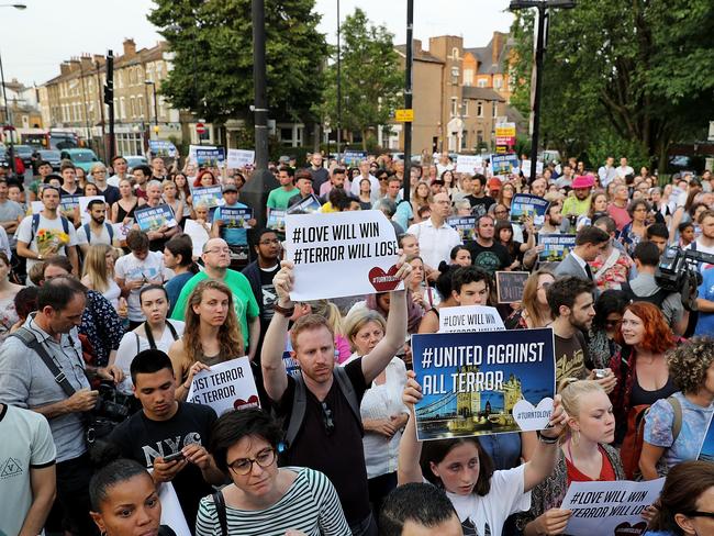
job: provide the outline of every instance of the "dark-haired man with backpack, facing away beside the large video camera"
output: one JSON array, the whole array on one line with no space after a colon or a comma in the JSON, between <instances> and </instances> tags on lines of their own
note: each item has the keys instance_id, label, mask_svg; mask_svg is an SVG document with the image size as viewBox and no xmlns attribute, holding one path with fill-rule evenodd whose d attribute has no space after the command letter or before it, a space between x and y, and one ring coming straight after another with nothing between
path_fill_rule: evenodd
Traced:
<instances>
[{"instance_id":1,"label":"dark-haired man with backpack, facing away beside the large video camera","mask_svg":"<svg viewBox=\"0 0 714 536\"><path fill-rule=\"evenodd\" d=\"M637 277L629 283L623 283L625 291L633 301L646 301L657 305L665 314L667 323L676 335L683 335L689 323L689 311L682 305L679 292L662 289L655 271L659 264L659 248L652 242L640 242L635 247L633 260L637 268Z\"/></svg>"}]
</instances>

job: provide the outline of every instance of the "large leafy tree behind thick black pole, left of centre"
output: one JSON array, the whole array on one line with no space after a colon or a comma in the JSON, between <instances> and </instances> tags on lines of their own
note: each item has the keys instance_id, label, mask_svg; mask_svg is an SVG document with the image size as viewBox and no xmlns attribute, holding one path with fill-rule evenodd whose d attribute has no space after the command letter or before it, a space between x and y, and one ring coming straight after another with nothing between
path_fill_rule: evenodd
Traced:
<instances>
[{"instance_id":1,"label":"large leafy tree behind thick black pole, left of centre","mask_svg":"<svg viewBox=\"0 0 714 536\"><path fill-rule=\"evenodd\" d=\"M175 108L208 121L250 118L250 0L155 0L148 20L175 57L161 86ZM327 54L314 0L266 0L268 107L274 116L306 121L323 91Z\"/></svg>"}]
</instances>

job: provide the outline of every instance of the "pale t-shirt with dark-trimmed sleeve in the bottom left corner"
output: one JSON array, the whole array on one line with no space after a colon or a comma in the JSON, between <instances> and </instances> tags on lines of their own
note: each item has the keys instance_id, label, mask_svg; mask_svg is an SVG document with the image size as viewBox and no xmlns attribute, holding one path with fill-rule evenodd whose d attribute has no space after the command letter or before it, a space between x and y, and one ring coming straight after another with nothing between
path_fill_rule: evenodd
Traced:
<instances>
[{"instance_id":1,"label":"pale t-shirt with dark-trimmed sleeve in the bottom left corner","mask_svg":"<svg viewBox=\"0 0 714 536\"><path fill-rule=\"evenodd\" d=\"M54 465L57 456L47 420L4 405L0 412L0 534L20 534L32 505L30 471Z\"/></svg>"}]
</instances>

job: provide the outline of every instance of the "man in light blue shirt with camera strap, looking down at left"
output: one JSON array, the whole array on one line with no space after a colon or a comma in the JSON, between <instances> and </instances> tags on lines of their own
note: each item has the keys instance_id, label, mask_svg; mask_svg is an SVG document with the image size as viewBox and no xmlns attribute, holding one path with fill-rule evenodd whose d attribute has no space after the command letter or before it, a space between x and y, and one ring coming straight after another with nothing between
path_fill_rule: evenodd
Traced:
<instances>
[{"instance_id":1,"label":"man in light blue shirt with camera strap, looking down at left","mask_svg":"<svg viewBox=\"0 0 714 536\"><path fill-rule=\"evenodd\" d=\"M92 535L97 529L89 517L91 464L82 413L96 406L98 392L90 390L87 373L114 382L123 375L113 366L85 366L77 326L86 291L71 277L55 278L40 289L37 312L27 317L19 335L8 337L0 347L0 402L27 407L47 418L57 447L57 499L65 520L72 534ZM30 343L20 335L26 335ZM55 380L43 354L75 390L71 397L63 388L65 382Z\"/></svg>"}]
</instances>

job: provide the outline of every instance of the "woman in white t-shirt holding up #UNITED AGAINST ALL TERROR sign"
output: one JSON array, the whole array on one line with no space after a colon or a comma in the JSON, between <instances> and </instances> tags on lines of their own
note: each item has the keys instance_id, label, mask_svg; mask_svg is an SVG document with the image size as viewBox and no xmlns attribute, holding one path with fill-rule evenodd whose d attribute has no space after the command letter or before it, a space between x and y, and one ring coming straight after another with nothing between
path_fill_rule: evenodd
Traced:
<instances>
[{"instance_id":1,"label":"woman in white t-shirt holding up #UNITED AGAINST ALL TERROR sign","mask_svg":"<svg viewBox=\"0 0 714 536\"><path fill-rule=\"evenodd\" d=\"M414 404L422 399L422 388L413 371L408 375L403 400L411 407L412 417L399 445L399 484L428 480L446 491L465 534L501 536L506 518L527 510L528 492L553 472L558 436L568 421L560 397L556 395L549 427L539 433L540 440L531 461L494 471L476 437L425 442L422 453L414 424Z\"/></svg>"}]
</instances>

